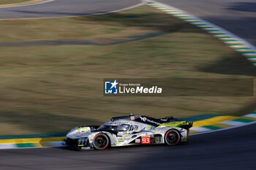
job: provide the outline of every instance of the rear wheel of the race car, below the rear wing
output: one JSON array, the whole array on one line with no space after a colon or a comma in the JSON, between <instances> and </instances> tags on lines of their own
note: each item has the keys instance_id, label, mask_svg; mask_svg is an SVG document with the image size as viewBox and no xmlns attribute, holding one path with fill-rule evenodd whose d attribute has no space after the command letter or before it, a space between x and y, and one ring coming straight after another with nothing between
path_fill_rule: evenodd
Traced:
<instances>
[{"instance_id":1,"label":"rear wheel of the race car, below the rear wing","mask_svg":"<svg viewBox=\"0 0 256 170\"><path fill-rule=\"evenodd\" d=\"M165 144L174 146L181 141L181 135L175 129L170 129L165 133Z\"/></svg>"}]
</instances>

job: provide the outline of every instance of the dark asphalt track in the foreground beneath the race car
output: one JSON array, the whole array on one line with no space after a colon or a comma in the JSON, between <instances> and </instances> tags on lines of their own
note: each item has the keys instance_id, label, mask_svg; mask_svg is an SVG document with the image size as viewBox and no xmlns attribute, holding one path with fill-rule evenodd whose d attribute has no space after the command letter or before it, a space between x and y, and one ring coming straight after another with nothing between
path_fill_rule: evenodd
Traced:
<instances>
[{"instance_id":1,"label":"dark asphalt track in the foreground beneath the race car","mask_svg":"<svg viewBox=\"0 0 256 170\"><path fill-rule=\"evenodd\" d=\"M0 150L0 169L255 169L256 124L190 136L175 147Z\"/></svg>"}]
</instances>

